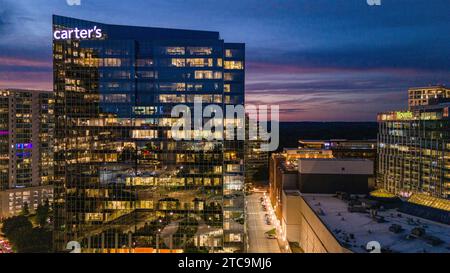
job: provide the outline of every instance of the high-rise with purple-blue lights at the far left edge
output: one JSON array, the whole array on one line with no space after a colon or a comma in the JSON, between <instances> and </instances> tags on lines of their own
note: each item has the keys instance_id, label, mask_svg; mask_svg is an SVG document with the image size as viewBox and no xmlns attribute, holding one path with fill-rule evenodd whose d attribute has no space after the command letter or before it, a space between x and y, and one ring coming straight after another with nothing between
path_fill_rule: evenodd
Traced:
<instances>
[{"instance_id":1,"label":"high-rise with purple-blue lights at the far left edge","mask_svg":"<svg viewBox=\"0 0 450 273\"><path fill-rule=\"evenodd\" d=\"M52 92L0 90L0 217L52 199L53 106Z\"/></svg>"}]
</instances>

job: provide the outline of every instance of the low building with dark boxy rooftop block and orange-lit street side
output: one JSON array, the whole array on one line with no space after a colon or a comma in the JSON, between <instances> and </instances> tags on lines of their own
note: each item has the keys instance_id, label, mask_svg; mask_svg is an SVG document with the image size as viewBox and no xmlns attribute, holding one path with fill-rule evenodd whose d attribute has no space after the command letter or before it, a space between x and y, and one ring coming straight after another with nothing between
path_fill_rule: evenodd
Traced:
<instances>
[{"instance_id":1,"label":"low building with dark boxy rooftop block and orange-lit street side","mask_svg":"<svg viewBox=\"0 0 450 273\"><path fill-rule=\"evenodd\" d=\"M273 154L270 159L269 196L279 220L285 190L319 194L339 191L367 194L374 188L374 163L371 160L336 159L332 158L331 151L320 154L322 158L317 153L309 157L305 157L306 153L292 154L295 154L295 159L289 158L290 154L286 150L283 154Z\"/></svg>"}]
</instances>

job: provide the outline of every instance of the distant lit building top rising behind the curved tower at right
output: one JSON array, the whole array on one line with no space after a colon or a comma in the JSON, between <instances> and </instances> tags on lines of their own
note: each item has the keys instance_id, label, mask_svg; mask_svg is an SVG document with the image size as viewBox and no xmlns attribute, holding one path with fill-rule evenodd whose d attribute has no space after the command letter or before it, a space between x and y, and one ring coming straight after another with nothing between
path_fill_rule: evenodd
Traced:
<instances>
[{"instance_id":1,"label":"distant lit building top rising behind the curved tower at right","mask_svg":"<svg viewBox=\"0 0 450 273\"><path fill-rule=\"evenodd\" d=\"M414 87L408 90L409 109L450 100L450 88L445 86Z\"/></svg>"}]
</instances>

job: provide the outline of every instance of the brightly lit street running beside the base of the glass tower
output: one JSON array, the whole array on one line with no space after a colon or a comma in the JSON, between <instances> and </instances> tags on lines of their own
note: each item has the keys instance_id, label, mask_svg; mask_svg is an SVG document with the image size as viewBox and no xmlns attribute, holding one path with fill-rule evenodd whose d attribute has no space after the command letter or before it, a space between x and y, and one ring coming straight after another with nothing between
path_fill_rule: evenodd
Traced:
<instances>
[{"instance_id":1,"label":"brightly lit street running beside the base of the glass tower","mask_svg":"<svg viewBox=\"0 0 450 273\"><path fill-rule=\"evenodd\" d=\"M262 193L253 193L246 197L247 200L247 227L249 237L249 253L281 253L276 239L267 239L265 232L274 229L275 226L267 225L260 198Z\"/></svg>"}]
</instances>

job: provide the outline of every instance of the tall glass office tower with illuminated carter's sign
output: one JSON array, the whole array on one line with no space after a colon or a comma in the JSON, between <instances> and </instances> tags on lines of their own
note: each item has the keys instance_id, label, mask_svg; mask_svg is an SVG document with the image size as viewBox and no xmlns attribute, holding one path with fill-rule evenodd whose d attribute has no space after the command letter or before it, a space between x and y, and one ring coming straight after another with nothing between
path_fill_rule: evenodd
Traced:
<instances>
[{"instance_id":1,"label":"tall glass office tower with illuminated carter's sign","mask_svg":"<svg viewBox=\"0 0 450 273\"><path fill-rule=\"evenodd\" d=\"M171 110L244 104L244 44L61 16L53 34L56 250L243 251L244 141L175 141Z\"/></svg>"}]
</instances>

